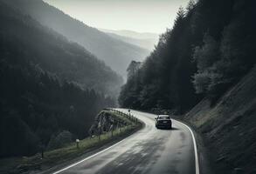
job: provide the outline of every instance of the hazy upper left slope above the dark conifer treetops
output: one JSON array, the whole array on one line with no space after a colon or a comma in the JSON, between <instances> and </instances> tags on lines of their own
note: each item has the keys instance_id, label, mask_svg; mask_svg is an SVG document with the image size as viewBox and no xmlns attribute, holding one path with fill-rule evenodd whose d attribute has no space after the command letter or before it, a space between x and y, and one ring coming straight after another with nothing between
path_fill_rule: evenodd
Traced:
<instances>
[{"instance_id":1,"label":"hazy upper left slope above the dark conifer treetops","mask_svg":"<svg viewBox=\"0 0 256 174\"><path fill-rule=\"evenodd\" d=\"M116 96L122 81L113 70L77 43L19 13L1 11L2 56L15 54L82 88Z\"/></svg>"}]
</instances>

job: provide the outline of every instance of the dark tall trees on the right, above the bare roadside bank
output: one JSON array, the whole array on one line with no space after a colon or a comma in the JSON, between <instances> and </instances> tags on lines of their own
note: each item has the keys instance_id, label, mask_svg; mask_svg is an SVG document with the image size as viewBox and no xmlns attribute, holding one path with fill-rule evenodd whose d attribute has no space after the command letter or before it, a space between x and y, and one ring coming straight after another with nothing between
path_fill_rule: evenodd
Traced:
<instances>
[{"instance_id":1,"label":"dark tall trees on the right, above the bare roadside bank","mask_svg":"<svg viewBox=\"0 0 256 174\"><path fill-rule=\"evenodd\" d=\"M190 1L142 68L122 87L123 107L183 113L218 99L255 64L255 1Z\"/></svg>"}]
</instances>

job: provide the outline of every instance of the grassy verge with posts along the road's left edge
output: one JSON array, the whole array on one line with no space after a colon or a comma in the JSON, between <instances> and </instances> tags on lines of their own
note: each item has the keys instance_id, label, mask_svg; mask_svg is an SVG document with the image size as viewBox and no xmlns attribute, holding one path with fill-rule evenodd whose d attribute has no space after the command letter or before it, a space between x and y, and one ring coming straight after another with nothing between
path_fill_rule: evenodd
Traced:
<instances>
[{"instance_id":1,"label":"grassy verge with posts along the road's left edge","mask_svg":"<svg viewBox=\"0 0 256 174\"><path fill-rule=\"evenodd\" d=\"M121 140L121 138L127 137L142 128L142 123L140 121L136 122L135 117L129 117L128 115L115 110L103 110L100 113L102 112L110 114L114 120L126 125L115 128L113 131L101 132L100 136L86 137L85 139L80 140L79 147L77 147L77 143L73 142L71 144L65 144L63 148L45 151L44 158L42 158L41 153L31 157L3 158L0 160L1 166L4 166L4 168L1 168L1 170L3 170L2 172L9 171L15 174L25 171L45 170L57 164L72 160L75 157L80 157L86 152L96 150L103 145Z\"/></svg>"}]
</instances>

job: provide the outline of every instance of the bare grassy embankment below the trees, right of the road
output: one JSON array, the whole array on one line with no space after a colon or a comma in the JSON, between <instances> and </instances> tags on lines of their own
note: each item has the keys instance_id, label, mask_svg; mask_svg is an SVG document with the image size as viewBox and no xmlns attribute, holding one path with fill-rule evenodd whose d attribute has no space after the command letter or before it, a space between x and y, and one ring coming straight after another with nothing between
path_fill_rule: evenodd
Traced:
<instances>
[{"instance_id":1,"label":"bare grassy embankment below the trees, right of the road","mask_svg":"<svg viewBox=\"0 0 256 174\"><path fill-rule=\"evenodd\" d=\"M256 173L256 67L217 104L204 99L184 119L200 131L216 173Z\"/></svg>"}]
</instances>

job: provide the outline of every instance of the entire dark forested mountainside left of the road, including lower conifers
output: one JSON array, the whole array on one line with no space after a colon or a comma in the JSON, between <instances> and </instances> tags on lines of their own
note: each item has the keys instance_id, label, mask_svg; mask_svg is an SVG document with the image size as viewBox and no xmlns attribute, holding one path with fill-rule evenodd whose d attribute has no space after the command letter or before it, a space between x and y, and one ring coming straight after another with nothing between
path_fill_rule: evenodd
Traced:
<instances>
[{"instance_id":1,"label":"entire dark forested mountainside left of the road, including lower conifers","mask_svg":"<svg viewBox=\"0 0 256 174\"><path fill-rule=\"evenodd\" d=\"M64 134L66 143L86 137L95 115L114 106L106 94L121 77L2 1L0 21L0 157L34 154Z\"/></svg>"}]
</instances>

